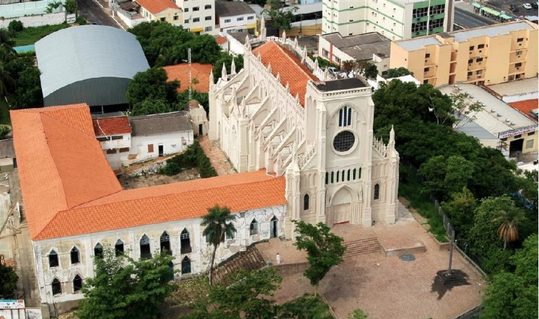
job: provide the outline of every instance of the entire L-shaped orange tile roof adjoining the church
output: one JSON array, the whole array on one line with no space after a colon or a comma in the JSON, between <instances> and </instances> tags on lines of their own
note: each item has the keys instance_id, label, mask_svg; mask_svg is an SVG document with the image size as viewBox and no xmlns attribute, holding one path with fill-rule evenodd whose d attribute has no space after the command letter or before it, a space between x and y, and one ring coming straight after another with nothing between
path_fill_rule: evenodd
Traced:
<instances>
[{"instance_id":1,"label":"entire L-shaped orange tile roof adjoining the church","mask_svg":"<svg viewBox=\"0 0 539 319\"><path fill-rule=\"evenodd\" d=\"M121 190L85 104L11 111L11 120L34 240L198 218L215 204L233 212L286 204L285 178L264 170Z\"/></svg>"}]
</instances>

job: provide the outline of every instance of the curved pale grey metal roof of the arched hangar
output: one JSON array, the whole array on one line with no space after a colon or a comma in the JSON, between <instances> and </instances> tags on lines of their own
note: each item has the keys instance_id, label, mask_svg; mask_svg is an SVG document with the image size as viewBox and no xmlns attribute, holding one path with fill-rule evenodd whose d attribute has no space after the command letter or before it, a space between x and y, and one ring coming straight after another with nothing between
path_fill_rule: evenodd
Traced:
<instances>
[{"instance_id":1,"label":"curved pale grey metal roof of the arched hangar","mask_svg":"<svg viewBox=\"0 0 539 319\"><path fill-rule=\"evenodd\" d=\"M83 25L36 42L43 97L90 78L129 78L149 69L135 35L114 27Z\"/></svg>"}]
</instances>

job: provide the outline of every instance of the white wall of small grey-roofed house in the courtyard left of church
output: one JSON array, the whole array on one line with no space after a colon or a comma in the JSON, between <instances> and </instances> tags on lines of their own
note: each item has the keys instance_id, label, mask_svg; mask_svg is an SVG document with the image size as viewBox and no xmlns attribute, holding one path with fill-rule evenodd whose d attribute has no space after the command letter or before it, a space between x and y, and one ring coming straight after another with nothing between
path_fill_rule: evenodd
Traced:
<instances>
[{"instance_id":1,"label":"white wall of small grey-roofed house in the courtyard left of church","mask_svg":"<svg viewBox=\"0 0 539 319\"><path fill-rule=\"evenodd\" d=\"M182 152L184 148L192 143L193 131L152 136L132 136L130 154L138 154L134 162L142 162L158 157L160 145L163 145L163 154L167 155ZM152 153L148 152L150 144L153 144Z\"/></svg>"}]
</instances>

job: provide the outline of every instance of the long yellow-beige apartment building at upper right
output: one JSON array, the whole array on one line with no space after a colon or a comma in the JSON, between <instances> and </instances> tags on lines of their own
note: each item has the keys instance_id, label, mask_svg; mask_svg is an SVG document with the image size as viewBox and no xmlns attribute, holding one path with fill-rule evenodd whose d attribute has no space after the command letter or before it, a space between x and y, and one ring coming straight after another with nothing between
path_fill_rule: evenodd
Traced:
<instances>
[{"instance_id":1,"label":"long yellow-beige apartment building at upper right","mask_svg":"<svg viewBox=\"0 0 539 319\"><path fill-rule=\"evenodd\" d=\"M538 75L538 25L518 21L395 41L390 68L398 67L436 87L531 78Z\"/></svg>"}]
</instances>

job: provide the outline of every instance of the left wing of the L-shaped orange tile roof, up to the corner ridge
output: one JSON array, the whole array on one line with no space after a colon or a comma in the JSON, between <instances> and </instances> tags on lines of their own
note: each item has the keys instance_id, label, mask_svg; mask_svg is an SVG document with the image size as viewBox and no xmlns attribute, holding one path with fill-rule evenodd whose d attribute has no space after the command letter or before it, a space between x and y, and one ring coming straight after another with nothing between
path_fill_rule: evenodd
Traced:
<instances>
[{"instance_id":1,"label":"left wing of the L-shaped orange tile roof, up to the corner ridge","mask_svg":"<svg viewBox=\"0 0 539 319\"><path fill-rule=\"evenodd\" d=\"M86 104L11 111L11 122L32 238L58 211L122 190Z\"/></svg>"}]
</instances>

